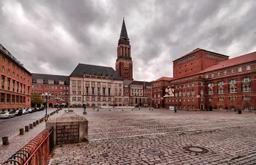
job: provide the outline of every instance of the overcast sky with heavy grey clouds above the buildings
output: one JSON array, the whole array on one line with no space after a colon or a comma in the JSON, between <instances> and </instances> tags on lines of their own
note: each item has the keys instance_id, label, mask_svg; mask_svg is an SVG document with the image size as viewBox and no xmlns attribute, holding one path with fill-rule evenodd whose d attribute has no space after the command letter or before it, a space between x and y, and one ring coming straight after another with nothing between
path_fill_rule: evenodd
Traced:
<instances>
[{"instance_id":1,"label":"overcast sky with heavy grey clouds above the buildings","mask_svg":"<svg viewBox=\"0 0 256 165\"><path fill-rule=\"evenodd\" d=\"M123 17L134 80L172 77L172 61L196 48L230 58L256 51L255 0L1 0L0 43L29 72L115 69Z\"/></svg>"}]
</instances>

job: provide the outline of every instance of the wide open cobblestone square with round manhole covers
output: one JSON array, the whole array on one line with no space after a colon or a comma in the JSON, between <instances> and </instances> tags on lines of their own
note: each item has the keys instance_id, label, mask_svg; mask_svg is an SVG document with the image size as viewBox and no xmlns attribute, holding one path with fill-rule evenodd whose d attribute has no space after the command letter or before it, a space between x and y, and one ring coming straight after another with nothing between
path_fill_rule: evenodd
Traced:
<instances>
[{"instance_id":1,"label":"wide open cobblestone square with round manhole covers","mask_svg":"<svg viewBox=\"0 0 256 165\"><path fill-rule=\"evenodd\" d=\"M256 164L255 113L86 111L90 141L56 146L50 164Z\"/></svg>"}]
</instances>

